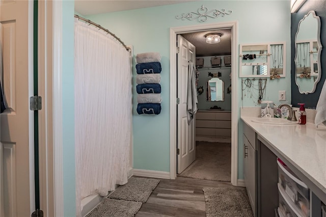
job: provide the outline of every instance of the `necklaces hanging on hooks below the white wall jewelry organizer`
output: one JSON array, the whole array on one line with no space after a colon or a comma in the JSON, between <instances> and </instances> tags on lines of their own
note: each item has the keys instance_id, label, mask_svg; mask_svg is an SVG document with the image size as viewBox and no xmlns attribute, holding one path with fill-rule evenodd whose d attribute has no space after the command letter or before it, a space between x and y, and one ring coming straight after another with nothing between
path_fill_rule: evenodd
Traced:
<instances>
[{"instance_id":1,"label":"necklaces hanging on hooks below the white wall jewelry organizer","mask_svg":"<svg viewBox=\"0 0 326 217\"><path fill-rule=\"evenodd\" d=\"M257 105L260 104L261 100L265 98L267 79L259 78L258 84L255 84L256 80L257 80L256 78L246 78L244 80L241 79L241 87L242 87L242 100L243 100L243 96L249 97L253 99L254 104Z\"/></svg>"}]
</instances>

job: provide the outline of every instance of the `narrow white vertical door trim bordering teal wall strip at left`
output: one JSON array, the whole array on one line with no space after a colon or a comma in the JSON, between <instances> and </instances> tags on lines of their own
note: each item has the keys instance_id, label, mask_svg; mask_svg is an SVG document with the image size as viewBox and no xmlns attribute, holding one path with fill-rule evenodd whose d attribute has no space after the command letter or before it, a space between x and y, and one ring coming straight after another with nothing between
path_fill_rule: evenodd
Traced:
<instances>
[{"instance_id":1,"label":"narrow white vertical door trim bordering teal wall strip at left","mask_svg":"<svg viewBox=\"0 0 326 217\"><path fill-rule=\"evenodd\" d=\"M62 143L62 2L53 1L53 144L55 216L64 216Z\"/></svg>"}]
</instances>

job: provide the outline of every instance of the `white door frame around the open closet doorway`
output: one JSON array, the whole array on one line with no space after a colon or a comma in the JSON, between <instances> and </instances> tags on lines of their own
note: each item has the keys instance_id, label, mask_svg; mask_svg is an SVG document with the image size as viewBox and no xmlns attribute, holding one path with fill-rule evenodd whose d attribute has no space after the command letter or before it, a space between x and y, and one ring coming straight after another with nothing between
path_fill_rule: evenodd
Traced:
<instances>
[{"instance_id":1,"label":"white door frame around the open closet doorway","mask_svg":"<svg viewBox=\"0 0 326 217\"><path fill-rule=\"evenodd\" d=\"M232 123L231 123L231 183L238 185L238 97L237 97L237 84L238 73L237 65L237 44L238 44L238 26L237 21L219 22L211 24L197 24L188 26L179 26L170 28L170 178L176 178L177 166L177 55L176 44L177 34L185 34L190 32L207 31L215 29L231 29L231 85L232 85Z\"/></svg>"}]
</instances>

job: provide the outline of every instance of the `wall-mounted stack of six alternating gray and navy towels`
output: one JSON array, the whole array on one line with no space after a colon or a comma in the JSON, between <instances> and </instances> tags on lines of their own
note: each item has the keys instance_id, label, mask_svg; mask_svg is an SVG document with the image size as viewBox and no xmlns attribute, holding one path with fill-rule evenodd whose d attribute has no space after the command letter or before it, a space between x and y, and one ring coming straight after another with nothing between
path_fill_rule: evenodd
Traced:
<instances>
[{"instance_id":1,"label":"wall-mounted stack of six alternating gray and navy towels","mask_svg":"<svg viewBox=\"0 0 326 217\"><path fill-rule=\"evenodd\" d=\"M137 65L137 113L158 115L161 112L161 56L158 52L139 53Z\"/></svg>"}]
</instances>

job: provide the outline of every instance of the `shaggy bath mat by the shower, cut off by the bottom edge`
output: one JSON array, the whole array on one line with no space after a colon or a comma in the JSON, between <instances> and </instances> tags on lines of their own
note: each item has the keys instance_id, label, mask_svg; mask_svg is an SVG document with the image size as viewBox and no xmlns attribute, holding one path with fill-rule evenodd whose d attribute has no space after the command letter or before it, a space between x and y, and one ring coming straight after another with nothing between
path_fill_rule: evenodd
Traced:
<instances>
[{"instance_id":1,"label":"shaggy bath mat by the shower, cut off by the bottom edge","mask_svg":"<svg viewBox=\"0 0 326 217\"><path fill-rule=\"evenodd\" d=\"M141 206L141 202L105 198L86 217L132 217L138 212Z\"/></svg>"}]
</instances>

